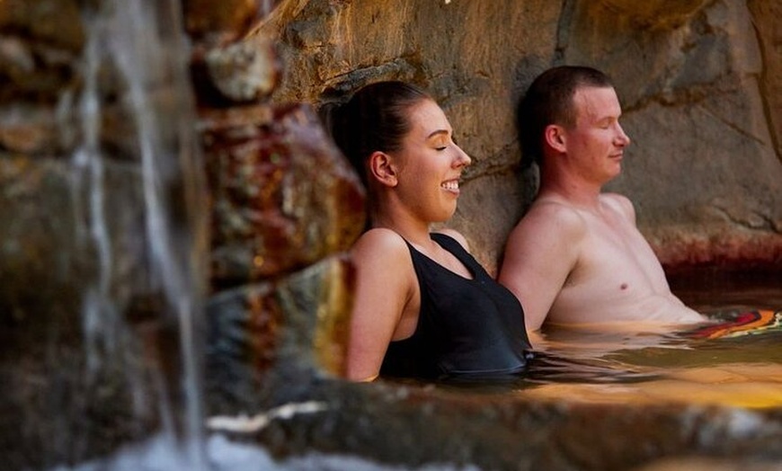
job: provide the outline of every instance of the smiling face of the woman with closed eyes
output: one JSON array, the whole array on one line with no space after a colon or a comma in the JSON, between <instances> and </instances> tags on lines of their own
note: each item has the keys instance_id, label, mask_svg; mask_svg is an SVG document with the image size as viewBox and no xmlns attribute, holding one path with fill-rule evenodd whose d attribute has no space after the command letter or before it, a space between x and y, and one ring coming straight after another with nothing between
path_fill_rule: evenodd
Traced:
<instances>
[{"instance_id":1,"label":"smiling face of the woman with closed eyes","mask_svg":"<svg viewBox=\"0 0 782 471\"><path fill-rule=\"evenodd\" d=\"M423 100L409 110L410 132L395 152L399 199L426 222L443 222L456 211L459 178L470 157L453 141L440 106Z\"/></svg>"}]
</instances>

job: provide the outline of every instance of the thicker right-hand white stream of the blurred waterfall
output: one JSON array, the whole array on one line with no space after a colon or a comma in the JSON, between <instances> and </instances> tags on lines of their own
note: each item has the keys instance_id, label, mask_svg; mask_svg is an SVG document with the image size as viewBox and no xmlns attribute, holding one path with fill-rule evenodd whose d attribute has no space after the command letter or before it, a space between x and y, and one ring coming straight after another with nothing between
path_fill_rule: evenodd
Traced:
<instances>
[{"instance_id":1,"label":"thicker right-hand white stream of the blurred waterfall","mask_svg":"<svg viewBox=\"0 0 782 471\"><path fill-rule=\"evenodd\" d=\"M174 233L172 209L165 199L165 191L176 179L184 178L187 187L190 179L198 179L203 168L194 145L192 103L185 92L189 90L185 72L188 55L181 12L179 3L173 1L117 0L113 6L116 11L111 31L115 36L111 46L120 71L128 80L131 108L137 118L153 281L161 283L173 311L169 315L178 320L186 407L185 444L191 465L199 464L198 468L202 468L200 382L194 345L195 315L200 314L194 288L199 282L193 277L204 272L198 270L201 264L197 259L191 258L190 244L182 244L186 242L182 238L191 235ZM160 36L150 34L150 30ZM158 88L173 94L162 108L153 102ZM197 204L194 191L183 197L191 205ZM194 206L190 209L197 210ZM202 212L203 207L198 209Z\"/></svg>"}]
</instances>

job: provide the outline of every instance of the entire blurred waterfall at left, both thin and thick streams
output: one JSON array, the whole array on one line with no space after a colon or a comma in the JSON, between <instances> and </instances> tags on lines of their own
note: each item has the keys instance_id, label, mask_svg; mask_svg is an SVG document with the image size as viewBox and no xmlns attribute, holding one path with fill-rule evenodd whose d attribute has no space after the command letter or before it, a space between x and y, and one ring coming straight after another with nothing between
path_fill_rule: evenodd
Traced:
<instances>
[{"instance_id":1,"label":"entire blurred waterfall at left, both thin and thick streams","mask_svg":"<svg viewBox=\"0 0 782 471\"><path fill-rule=\"evenodd\" d=\"M135 129L133 148L138 155L130 160L138 166L135 174L140 175L142 187L146 289L162 299L157 342L168 342L163 336L169 335L180 343L178 354L174 351L179 358L163 358L159 353L157 358L177 368L164 371L157 365L151 372L159 401L160 440L175 457L168 458L176 463L173 468L200 470L207 468L196 334L206 276L201 258L207 253L205 205L200 200L205 184L179 8L173 0L111 0L100 11L87 13L84 87L76 113L82 123L82 142L72 165L74 192L87 195L84 209L75 205L77 220L84 220L77 236L95 259L94 280L84 289L82 321L86 373L97 377L104 360L125 360L126 339L132 336L122 318L129 296L113 286L121 269L114 259L111 227L112 218L120 215L108 209L111 188L106 168L117 159L102 148L106 93L101 83L105 80L101 74L110 70L120 82L112 84L119 85L118 102ZM129 377L138 373L138 369L125 370ZM170 378L176 375L181 378ZM137 415L147 407L142 382L143 378L127 378Z\"/></svg>"}]
</instances>

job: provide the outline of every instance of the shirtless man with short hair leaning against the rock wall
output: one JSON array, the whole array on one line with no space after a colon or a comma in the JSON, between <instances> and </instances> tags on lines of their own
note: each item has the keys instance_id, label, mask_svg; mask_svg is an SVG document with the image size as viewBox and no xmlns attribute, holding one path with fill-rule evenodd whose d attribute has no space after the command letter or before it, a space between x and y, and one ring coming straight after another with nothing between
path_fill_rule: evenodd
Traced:
<instances>
[{"instance_id":1,"label":"shirtless man with short hair leaning against the rock wall","mask_svg":"<svg viewBox=\"0 0 782 471\"><path fill-rule=\"evenodd\" d=\"M527 330L557 324L668 325L705 317L676 298L626 197L603 193L622 168L630 138L609 77L555 67L520 102L525 158L540 188L511 231L499 280L520 299Z\"/></svg>"}]
</instances>

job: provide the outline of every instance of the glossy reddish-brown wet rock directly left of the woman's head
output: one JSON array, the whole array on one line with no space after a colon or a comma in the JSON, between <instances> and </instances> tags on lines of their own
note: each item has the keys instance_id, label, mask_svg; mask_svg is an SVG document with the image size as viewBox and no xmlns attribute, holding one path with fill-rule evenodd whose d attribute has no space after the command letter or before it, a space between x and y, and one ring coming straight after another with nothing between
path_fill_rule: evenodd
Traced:
<instances>
[{"instance_id":1,"label":"glossy reddish-brown wet rock directly left of the woman's head","mask_svg":"<svg viewBox=\"0 0 782 471\"><path fill-rule=\"evenodd\" d=\"M208 111L212 279L236 286L347 250L364 191L307 105Z\"/></svg>"}]
</instances>

